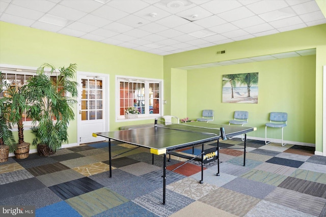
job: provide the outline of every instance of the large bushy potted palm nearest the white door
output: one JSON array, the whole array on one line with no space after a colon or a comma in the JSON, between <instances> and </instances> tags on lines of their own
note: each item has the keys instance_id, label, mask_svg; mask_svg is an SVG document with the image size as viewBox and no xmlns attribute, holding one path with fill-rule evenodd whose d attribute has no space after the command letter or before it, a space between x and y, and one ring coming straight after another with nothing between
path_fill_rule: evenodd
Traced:
<instances>
[{"instance_id":1,"label":"large bushy potted palm nearest the white door","mask_svg":"<svg viewBox=\"0 0 326 217\"><path fill-rule=\"evenodd\" d=\"M45 72L49 68L49 73ZM78 95L77 82L71 81L76 73L76 64L56 70L50 64L37 69L37 76L25 85L29 108L27 115L32 118L33 145L37 145L40 156L48 156L68 142L68 124L74 119L73 105ZM55 76L50 76L55 74Z\"/></svg>"}]
</instances>

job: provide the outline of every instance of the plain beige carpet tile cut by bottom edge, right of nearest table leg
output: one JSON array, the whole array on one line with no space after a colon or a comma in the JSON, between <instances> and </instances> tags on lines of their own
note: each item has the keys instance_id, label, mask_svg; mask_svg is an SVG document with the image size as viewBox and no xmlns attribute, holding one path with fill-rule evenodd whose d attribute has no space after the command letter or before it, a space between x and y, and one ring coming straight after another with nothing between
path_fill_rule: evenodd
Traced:
<instances>
[{"instance_id":1,"label":"plain beige carpet tile cut by bottom edge, right of nearest table leg","mask_svg":"<svg viewBox=\"0 0 326 217\"><path fill-rule=\"evenodd\" d=\"M237 215L212 207L200 201L195 201L194 203L189 204L188 206L184 207L183 209L180 209L179 211L175 212L170 216L171 217L189 217L189 216L236 217Z\"/></svg>"}]
</instances>

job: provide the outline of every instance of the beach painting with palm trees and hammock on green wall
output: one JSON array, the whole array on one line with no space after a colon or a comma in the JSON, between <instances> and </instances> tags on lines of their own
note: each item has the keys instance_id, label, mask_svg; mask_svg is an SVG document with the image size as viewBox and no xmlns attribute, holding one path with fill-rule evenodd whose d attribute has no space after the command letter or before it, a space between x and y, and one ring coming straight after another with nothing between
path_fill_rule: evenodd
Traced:
<instances>
[{"instance_id":1,"label":"beach painting with palm trees and hammock on green wall","mask_svg":"<svg viewBox=\"0 0 326 217\"><path fill-rule=\"evenodd\" d=\"M222 103L258 103L258 72L223 75Z\"/></svg>"}]
</instances>

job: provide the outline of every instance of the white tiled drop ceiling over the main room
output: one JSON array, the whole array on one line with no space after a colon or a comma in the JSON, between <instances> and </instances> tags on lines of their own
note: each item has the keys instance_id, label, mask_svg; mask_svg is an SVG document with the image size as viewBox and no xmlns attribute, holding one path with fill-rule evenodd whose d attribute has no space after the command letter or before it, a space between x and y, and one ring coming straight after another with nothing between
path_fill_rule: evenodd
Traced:
<instances>
[{"instance_id":1,"label":"white tiled drop ceiling over the main room","mask_svg":"<svg viewBox=\"0 0 326 217\"><path fill-rule=\"evenodd\" d=\"M326 23L314 0L0 0L0 20L158 55Z\"/></svg>"}]
</instances>

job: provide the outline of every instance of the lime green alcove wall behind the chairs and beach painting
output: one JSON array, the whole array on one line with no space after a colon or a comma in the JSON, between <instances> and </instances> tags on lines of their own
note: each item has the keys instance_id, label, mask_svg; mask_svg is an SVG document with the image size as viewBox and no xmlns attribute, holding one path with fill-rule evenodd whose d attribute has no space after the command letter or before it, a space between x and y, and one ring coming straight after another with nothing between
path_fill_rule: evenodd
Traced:
<instances>
[{"instance_id":1,"label":"lime green alcove wall behind the chairs and beach painting","mask_svg":"<svg viewBox=\"0 0 326 217\"><path fill-rule=\"evenodd\" d=\"M259 73L258 104L222 103L222 76L251 72ZM214 109L214 122L228 124L235 110L246 110L247 126L257 127L248 136L264 138L269 112L287 112L284 139L315 143L315 55L189 70L187 83L189 117ZM189 88L196 85L201 88ZM271 129L267 135L279 139L281 131Z\"/></svg>"}]
</instances>

